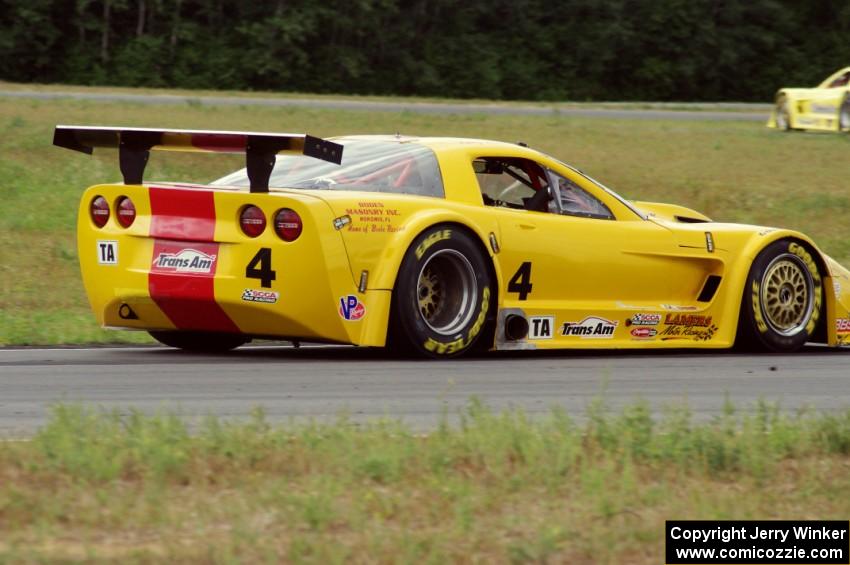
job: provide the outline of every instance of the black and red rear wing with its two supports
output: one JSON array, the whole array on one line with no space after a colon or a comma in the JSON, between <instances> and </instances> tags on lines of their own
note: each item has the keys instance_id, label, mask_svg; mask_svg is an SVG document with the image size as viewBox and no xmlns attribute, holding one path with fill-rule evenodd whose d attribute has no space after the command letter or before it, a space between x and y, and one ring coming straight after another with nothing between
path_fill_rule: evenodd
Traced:
<instances>
[{"instance_id":1,"label":"black and red rear wing with its two supports","mask_svg":"<svg viewBox=\"0 0 850 565\"><path fill-rule=\"evenodd\" d=\"M268 192L275 155L294 153L340 164L342 145L298 133L255 133L149 128L56 126L53 145L91 155L95 147L118 149L124 184L142 184L150 151L244 153L251 192Z\"/></svg>"}]
</instances>

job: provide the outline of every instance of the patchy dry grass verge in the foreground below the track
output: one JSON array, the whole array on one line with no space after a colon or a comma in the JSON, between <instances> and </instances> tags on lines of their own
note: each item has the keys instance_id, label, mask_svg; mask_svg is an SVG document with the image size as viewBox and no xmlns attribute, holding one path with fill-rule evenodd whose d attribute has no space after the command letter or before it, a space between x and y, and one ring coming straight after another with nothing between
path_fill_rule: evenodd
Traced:
<instances>
[{"instance_id":1,"label":"patchy dry grass verge in the foreground below the track","mask_svg":"<svg viewBox=\"0 0 850 565\"><path fill-rule=\"evenodd\" d=\"M845 519L850 412L645 404L582 422L471 401L273 426L54 407L0 444L0 562L658 563L665 519Z\"/></svg>"}]
</instances>

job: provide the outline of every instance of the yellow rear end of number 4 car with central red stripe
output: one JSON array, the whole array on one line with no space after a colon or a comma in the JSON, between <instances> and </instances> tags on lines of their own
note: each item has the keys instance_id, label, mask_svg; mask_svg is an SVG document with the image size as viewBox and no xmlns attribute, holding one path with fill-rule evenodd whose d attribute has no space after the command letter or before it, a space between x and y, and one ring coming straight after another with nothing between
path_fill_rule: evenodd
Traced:
<instances>
[{"instance_id":1,"label":"yellow rear end of number 4 car with central red stripe","mask_svg":"<svg viewBox=\"0 0 850 565\"><path fill-rule=\"evenodd\" d=\"M94 226L88 207L97 195L110 203L130 197L133 225L110 218ZM257 238L238 226L247 204L269 219ZM279 239L270 224L283 207L304 220L294 242ZM103 326L382 345L380 328L370 333L366 326L373 314L383 315L390 293L358 292L332 216L306 195L95 186L84 194L78 220L83 282Z\"/></svg>"}]
</instances>

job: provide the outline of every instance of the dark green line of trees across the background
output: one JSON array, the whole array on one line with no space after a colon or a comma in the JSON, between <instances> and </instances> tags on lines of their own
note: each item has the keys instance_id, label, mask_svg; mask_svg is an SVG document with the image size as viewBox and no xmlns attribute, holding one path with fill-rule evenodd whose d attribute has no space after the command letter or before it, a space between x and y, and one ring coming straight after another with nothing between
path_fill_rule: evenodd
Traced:
<instances>
[{"instance_id":1,"label":"dark green line of trees across the background","mask_svg":"<svg viewBox=\"0 0 850 565\"><path fill-rule=\"evenodd\" d=\"M850 0L0 0L0 79L769 101L850 65Z\"/></svg>"}]
</instances>

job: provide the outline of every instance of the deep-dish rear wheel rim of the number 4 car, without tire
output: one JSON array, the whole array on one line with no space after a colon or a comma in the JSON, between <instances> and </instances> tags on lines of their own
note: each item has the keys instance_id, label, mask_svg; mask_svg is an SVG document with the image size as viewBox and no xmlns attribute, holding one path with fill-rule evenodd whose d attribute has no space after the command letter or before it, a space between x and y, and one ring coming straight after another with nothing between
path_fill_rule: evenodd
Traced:
<instances>
[{"instance_id":1,"label":"deep-dish rear wheel rim of the number 4 car, without tire","mask_svg":"<svg viewBox=\"0 0 850 565\"><path fill-rule=\"evenodd\" d=\"M472 319L477 296L472 264L454 249L437 251L419 271L419 315L438 334L451 335L464 328Z\"/></svg>"}]
</instances>

